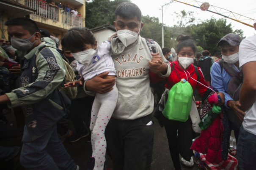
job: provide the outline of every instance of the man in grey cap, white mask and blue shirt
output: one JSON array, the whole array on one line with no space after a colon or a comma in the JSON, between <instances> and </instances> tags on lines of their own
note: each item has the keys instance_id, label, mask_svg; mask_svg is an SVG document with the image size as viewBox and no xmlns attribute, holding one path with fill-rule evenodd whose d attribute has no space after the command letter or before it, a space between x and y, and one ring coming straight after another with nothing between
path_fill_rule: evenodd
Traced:
<instances>
[{"instance_id":1,"label":"man in grey cap, white mask and blue shirt","mask_svg":"<svg viewBox=\"0 0 256 170\"><path fill-rule=\"evenodd\" d=\"M225 101L225 111L230 124L230 131L234 130L236 141L238 140L241 122L236 115L244 114L236 101L239 100L240 85L243 77L239 72L239 45L242 37L233 33L225 35L217 47L220 47L222 59L212 65L211 78L212 88L224 93L222 101ZM238 79L239 78L239 79ZM239 83L239 84L237 84Z\"/></svg>"}]
</instances>

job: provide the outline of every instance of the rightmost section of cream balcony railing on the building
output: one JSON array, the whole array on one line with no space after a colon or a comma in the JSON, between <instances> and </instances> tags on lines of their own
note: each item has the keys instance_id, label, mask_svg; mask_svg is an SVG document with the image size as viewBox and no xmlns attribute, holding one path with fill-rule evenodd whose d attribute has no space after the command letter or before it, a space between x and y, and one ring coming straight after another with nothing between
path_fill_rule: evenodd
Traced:
<instances>
[{"instance_id":1,"label":"rightmost section of cream balcony railing on the building","mask_svg":"<svg viewBox=\"0 0 256 170\"><path fill-rule=\"evenodd\" d=\"M83 27L83 17L74 16L72 13L62 12L62 23L74 27Z\"/></svg>"}]
</instances>

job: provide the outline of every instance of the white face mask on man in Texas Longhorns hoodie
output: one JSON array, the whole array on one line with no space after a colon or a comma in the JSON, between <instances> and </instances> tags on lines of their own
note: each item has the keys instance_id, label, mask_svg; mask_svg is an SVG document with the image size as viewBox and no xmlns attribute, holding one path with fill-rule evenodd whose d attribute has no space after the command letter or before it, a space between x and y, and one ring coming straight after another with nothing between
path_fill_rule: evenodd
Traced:
<instances>
[{"instance_id":1,"label":"white face mask on man in Texas Longhorns hoodie","mask_svg":"<svg viewBox=\"0 0 256 170\"><path fill-rule=\"evenodd\" d=\"M140 22L140 25L141 25L141 22ZM140 33L140 28L138 33L128 29L118 30L117 37L124 44L124 46L127 47L128 45L131 45L138 39L139 33Z\"/></svg>"}]
</instances>

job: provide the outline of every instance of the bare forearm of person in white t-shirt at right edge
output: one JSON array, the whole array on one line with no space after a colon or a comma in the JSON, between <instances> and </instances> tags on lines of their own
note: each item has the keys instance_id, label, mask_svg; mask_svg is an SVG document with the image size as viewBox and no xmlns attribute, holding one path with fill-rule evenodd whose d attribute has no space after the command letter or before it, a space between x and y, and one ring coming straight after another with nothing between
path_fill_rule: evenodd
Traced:
<instances>
[{"instance_id":1,"label":"bare forearm of person in white t-shirt at right edge","mask_svg":"<svg viewBox=\"0 0 256 170\"><path fill-rule=\"evenodd\" d=\"M247 111L256 101L256 88L248 87L246 82L243 83L240 91L239 102L242 111Z\"/></svg>"}]
</instances>

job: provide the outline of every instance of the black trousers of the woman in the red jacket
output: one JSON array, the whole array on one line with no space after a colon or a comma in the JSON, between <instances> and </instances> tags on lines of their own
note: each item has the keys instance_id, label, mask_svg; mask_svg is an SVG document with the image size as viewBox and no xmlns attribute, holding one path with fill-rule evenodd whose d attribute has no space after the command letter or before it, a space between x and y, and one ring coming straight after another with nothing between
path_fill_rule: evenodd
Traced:
<instances>
[{"instance_id":1,"label":"black trousers of the woman in the red jacket","mask_svg":"<svg viewBox=\"0 0 256 170\"><path fill-rule=\"evenodd\" d=\"M192 121L190 118L187 122L179 122L165 118L164 125L173 166L175 170L181 170L179 154L186 160L190 160L190 157L193 156L193 151L190 149L194 134ZM177 130L179 135L177 135Z\"/></svg>"}]
</instances>

